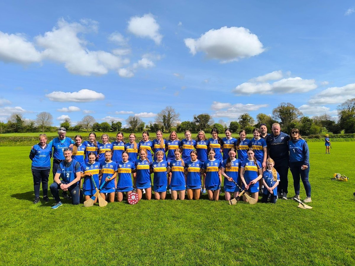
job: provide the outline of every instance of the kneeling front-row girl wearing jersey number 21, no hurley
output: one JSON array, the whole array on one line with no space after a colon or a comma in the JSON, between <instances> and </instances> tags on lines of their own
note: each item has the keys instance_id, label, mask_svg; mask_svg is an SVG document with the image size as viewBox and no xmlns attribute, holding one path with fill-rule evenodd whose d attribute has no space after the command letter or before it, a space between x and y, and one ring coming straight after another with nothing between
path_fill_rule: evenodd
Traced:
<instances>
[{"instance_id":1,"label":"kneeling front-row girl wearing jersey number 21, no hurley","mask_svg":"<svg viewBox=\"0 0 355 266\"><path fill-rule=\"evenodd\" d=\"M202 165L202 173L206 173L206 189L209 200L218 200L222 183L221 161L214 158L213 148L208 149L208 159Z\"/></svg>"}]
</instances>

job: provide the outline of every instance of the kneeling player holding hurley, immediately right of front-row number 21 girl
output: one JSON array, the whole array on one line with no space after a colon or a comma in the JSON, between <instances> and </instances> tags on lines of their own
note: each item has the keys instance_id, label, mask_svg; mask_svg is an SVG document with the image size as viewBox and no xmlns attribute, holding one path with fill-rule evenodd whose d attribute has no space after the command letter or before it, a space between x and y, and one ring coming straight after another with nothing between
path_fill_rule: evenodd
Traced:
<instances>
[{"instance_id":1,"label":"kneeling player holding hurley, immediately right of front-row number 21 girl","mask_svg":"<svg viewBox=\"0 0 355 266\"><path fill-rule=\"evenodd\" d=\"M232 179L239 184L239 172L240 172L240 160L236 159L236 152L234 148L229 149L228 152L228 159L225 159L222 163L222 176L224 176L223 188L224 188L224 196L225 200L232 199L238 196L239 189L237 186L232 182Z\"/></svg>"}]
</instances>

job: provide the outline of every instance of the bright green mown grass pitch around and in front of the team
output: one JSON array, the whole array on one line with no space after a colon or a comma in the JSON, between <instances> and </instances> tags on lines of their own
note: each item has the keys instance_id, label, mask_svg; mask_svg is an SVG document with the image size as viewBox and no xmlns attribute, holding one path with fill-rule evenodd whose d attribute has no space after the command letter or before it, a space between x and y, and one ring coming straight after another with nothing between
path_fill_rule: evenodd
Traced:
<instances>
[{"instance_id":1,"label":"bright green mown grass pitch around and in front of the team","mask_svg":"<svg viewBox=\"0 0 355 266\"><path fill-rule=\"evenodd\" d=\"M64 200L51 210L51 197L32 203L30 147L0 147L1 265L354 265L355 143L333 143L330 155L322 143L309 146L312 210L206 195L103 208ZM349 182L331 181L334 172Z\"/></svg>"}]
</instances>

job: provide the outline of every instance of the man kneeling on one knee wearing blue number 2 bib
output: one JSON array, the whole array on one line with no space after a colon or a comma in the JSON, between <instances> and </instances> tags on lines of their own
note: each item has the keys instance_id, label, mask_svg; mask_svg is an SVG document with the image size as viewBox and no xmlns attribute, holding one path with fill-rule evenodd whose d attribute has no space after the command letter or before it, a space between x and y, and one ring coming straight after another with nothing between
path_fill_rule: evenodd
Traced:
<instances>
[{"instance_id":1,"label":"man kneeling on one knee wearing blue number 2 bib","mask_svg":"<svg viewBox=\"0 0 355 266\"><path fill-rule=\"evenodd\" d=\"M50 192L56 201L56 204L52 207L52 209L57 209L62 205L59 198L59 189L70 192L72 204L77 205L80 203L80 163L71 159L72 151L70 148L64 148L63 155L65 160L59 164L57 172L54 176L54 183L49 187ZM60 180L60 178L62 180Z\"/></svg>"}]
</instances>

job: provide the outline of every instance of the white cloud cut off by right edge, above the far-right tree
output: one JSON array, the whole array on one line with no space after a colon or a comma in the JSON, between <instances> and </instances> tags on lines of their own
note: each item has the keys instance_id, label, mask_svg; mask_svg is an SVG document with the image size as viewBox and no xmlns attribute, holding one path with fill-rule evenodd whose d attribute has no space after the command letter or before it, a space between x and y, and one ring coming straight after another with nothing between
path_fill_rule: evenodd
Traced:
<instances>
[{"instance_id":1,"label":"white cloud cut off by right edge, above the far-right tree","mask_svg":"<svg viewBox=\"0 0 355 266\"><path fill-rule=\"evenodd\" d=\"M355 98L355 83L343 87L330 87L312 96L308 104L341 104L342 102Z\"/></svg>"}]
</instances>

